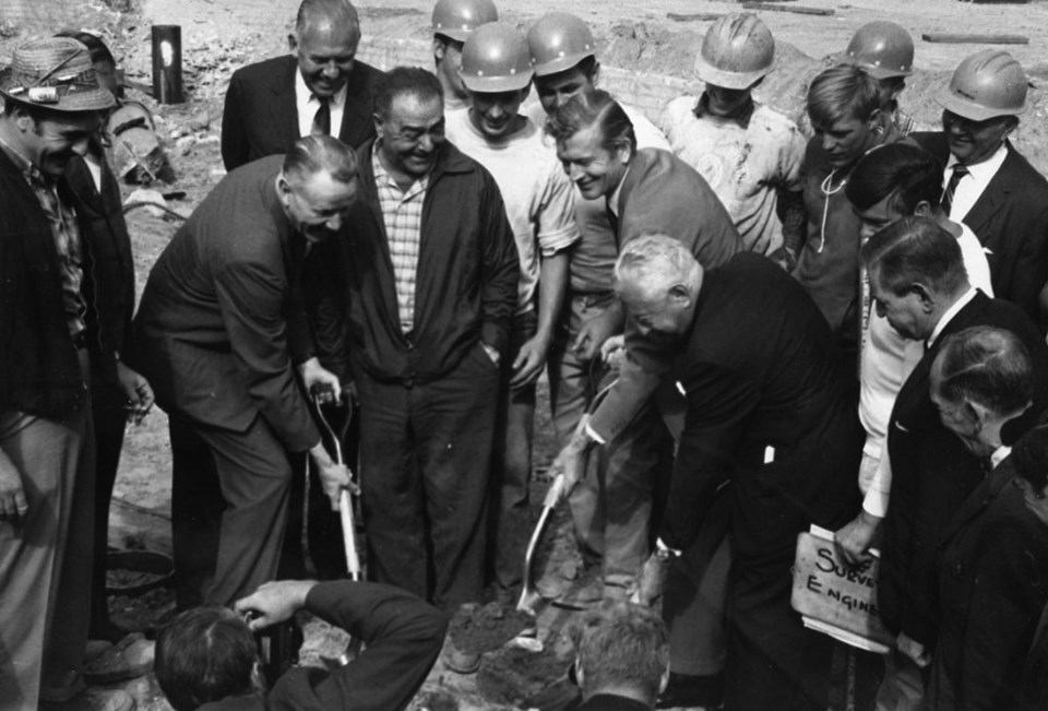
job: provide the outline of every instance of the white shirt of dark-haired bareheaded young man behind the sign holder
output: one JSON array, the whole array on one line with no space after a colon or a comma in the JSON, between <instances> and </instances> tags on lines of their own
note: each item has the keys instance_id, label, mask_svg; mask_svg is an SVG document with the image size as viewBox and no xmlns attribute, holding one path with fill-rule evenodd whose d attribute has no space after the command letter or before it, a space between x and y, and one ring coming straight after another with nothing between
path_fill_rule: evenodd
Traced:
<instances>
[{"instance_id":1,"label":"white shirt of dark-haired bareheaded young man behind the sign holder","mask_svg":"<svg viewBox=\"0 0 1048 711\"><path fill-rule=\"evenodd\" d=\"M957 244L968 272L968 282L987 296L993 296L986 252L975 233L963 223ZM869 481L859 482L859 488L866 495L862 507L873 516L883 517L888 511L891 466L882 454L895 396L924 355L922 342L904 339L888 319L878 316L877 309L871 308L870 330L861 355L859 419L867 434L864 453L880 458L881 465Z\"/></svg>"}]
</instances>

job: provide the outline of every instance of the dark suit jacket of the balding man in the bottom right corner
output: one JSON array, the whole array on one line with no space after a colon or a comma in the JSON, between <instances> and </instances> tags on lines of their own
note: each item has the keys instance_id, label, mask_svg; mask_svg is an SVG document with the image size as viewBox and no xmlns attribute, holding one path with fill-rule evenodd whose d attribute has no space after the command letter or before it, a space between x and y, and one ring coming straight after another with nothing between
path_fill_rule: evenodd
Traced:
<instances>
[{"instance_id":1,"label":"dark suit jacket of the balding man in the bottom right corner","mask_svg":"<svg viewBox=\"0 0 1048 711\"><path fill-rule=\"evenodd\" d=\"M1005 459L961 505L942 545L934 664L949 689L932 695L933 709L1016 708L1048 602L1048 526L1026 508L1014 476Z\"/></svg>"}]
</instances>

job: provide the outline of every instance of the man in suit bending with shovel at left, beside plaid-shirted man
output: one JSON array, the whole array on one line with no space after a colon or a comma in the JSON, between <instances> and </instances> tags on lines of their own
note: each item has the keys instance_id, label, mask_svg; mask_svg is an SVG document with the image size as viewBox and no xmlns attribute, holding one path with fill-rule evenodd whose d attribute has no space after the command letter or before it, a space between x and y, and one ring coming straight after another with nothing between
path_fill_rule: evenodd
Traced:
<instances>
[{"instance_id":1,"label":"man in suit bending with shovel at left, beside plaid-shirted man","mask_svg":"<svg viewBox=\"0 0 1048 711\"><path fill-rule=\"evenodd\" d=\"M357 163L340 141L299 139L229 174L160 254L134 321L134 363L170 417L178 605L228 605L276 573L291 470L309 451L329 497L348 483L296 382L293 287L309 248L341 229ZM303 386L338 379L315 358Z\"/></svg>"}]
</instances>

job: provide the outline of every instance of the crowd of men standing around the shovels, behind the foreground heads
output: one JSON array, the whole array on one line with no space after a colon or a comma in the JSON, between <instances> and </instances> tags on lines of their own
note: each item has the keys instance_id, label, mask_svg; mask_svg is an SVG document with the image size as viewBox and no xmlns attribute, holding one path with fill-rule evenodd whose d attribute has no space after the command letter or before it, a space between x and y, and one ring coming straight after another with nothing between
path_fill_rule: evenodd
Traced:
<instances>
[{"instance_id":1,"label":"crowd of men standing around the shovels, behind the foreground heads","mask_svg":"<svg viewBox=\"0 0 1048 711\"><path fill-rule=\"evenodd\" d=\"M704 90L653 123L599 88L572 14L522 33L491 0L439 0L432 31L433 71L383 72L356 58L348 0L303 0L290 54L230 78L228 175L133 318L116 62L83 33L15 51L0 709L72 698L87 639L122 632L108 505L122 425L154 400L175 708L405 708L444 613L520 594L544 372L592 571L545 577L595 607L581 708L826 708L841 648L790 607L811 524L849 565L880 552L896 644L864 663L869 708L1046 708L1048 181L1010 141L1022 67L972 55L936 95L942 130L913 132L913 40L870 23L798 127L753 96L771 32L729 14L695 59ZM346 411L349 466L320 427ZM345 489L374 582L273 582L301 569L293 509L330 516ZM337 534L309 533L318 577L340 577L320 565ZM628 603L653 561L662 621ZM266 700L251 632L301 608L367 649Z\"/></svg>"}]
</instances>

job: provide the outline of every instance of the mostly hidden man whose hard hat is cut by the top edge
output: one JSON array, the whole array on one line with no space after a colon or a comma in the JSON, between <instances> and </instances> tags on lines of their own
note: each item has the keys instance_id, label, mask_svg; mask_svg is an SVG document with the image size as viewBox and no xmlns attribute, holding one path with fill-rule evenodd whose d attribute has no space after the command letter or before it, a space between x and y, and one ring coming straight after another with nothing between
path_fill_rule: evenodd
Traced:
<instances>
[{"instance_id":1,"label":"mostly hidden man whose hard hat is cut by the top edge","mask_svg":"<svg viewBox=\"0 0 1048 711\"><path fill-rule=\"evenodd\" d=\"M444 116L469 108L469 92L462 84L462 45L483 24L497 22L491 0L439 0L433 8L433 63L444 92Z\"/></svg>"}]
</instances>

